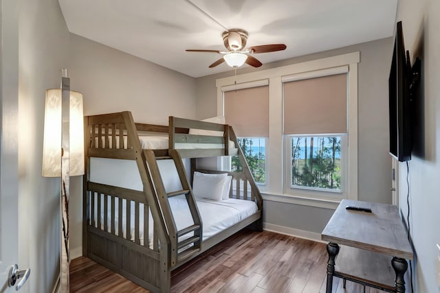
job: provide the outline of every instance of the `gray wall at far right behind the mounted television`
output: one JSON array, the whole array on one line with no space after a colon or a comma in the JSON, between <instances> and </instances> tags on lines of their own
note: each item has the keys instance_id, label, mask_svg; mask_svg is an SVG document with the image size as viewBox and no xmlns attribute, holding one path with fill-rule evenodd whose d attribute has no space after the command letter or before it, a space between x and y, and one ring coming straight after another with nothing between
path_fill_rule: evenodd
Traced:
<instances>
[{"instance_id":1,"label":"gray wall at far right behind the mounted television","mask_svg":"<svg viewBox=\"0 0 440 293\"><path fill-rule=\"evenodd\" d=\"M409 162L410 234L415 249L413 261L414 292L440 292L435 281L435 259L440 256L440 1L401 0L397 21L402 21L405 47L412 62L422 62L420 93L415 102L421 105L416 115L419 126ZM405 222L408 215L406 164L399 164L399 207ZM408 224L408 223L407 223ZM437 272L438 273L438 272ZM408 288L408 287L407 287Z\"/></svg>"}]
</instances>

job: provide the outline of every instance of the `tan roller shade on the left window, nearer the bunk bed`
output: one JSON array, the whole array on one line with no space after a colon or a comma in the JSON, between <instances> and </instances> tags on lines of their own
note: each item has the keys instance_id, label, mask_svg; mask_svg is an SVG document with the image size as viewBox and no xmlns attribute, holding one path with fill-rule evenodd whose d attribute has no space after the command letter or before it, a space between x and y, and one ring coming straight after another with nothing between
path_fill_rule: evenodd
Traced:
<instances>
[{"instance_id":1,"label":"tan roller shade on the left window, nearer the bunk bed","mask_svg":"<svg viewBox=\"0 0 440 293\"><path fill-rule=\"evenodd\" d=\"M224 92L226 123L238 137L269 136L269 86Z\"/></svg>"}]
</instances>

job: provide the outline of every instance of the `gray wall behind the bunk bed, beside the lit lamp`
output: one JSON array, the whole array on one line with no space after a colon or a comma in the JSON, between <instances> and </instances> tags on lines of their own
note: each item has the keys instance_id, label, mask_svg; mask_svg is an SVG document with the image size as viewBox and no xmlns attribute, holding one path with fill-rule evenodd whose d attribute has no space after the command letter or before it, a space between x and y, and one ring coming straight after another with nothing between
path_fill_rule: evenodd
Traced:
<instances>
[{"instance_id":1,"label":"gray wall behind the bunk bed, beside the lit lamp","mask_svg":"<svg viewBox=\"0 0 440 293\"><path fill-rule=\"evenodd\" d=\"M71 87L83 93L84 115L130 110L136 122L168 125L168 116L194 119L195 79L71 34ZM70 248L82 253L82 178L72 178Z\"/></svg>"}]
</instances>

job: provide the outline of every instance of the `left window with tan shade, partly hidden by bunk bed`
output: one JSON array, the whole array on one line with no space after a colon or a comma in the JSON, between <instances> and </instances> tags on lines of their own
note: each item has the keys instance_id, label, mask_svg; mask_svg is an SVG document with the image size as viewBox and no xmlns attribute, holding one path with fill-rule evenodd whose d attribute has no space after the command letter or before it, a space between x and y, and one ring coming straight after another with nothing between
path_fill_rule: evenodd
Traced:
<instances>
[{"instance_id":1,"label":"left window with tan shade, partly hidden by bunk bed","mask_svg":"<svg viewBox=\"0 0 440 293\"><path fill-rule=\"evenodd\" d=\"M267 137L269 136L269 86L223 91L224 116L232 126L256 183L267 175ZM243 168L237 156L232 171Z\"/></svg>"}]
</instances>

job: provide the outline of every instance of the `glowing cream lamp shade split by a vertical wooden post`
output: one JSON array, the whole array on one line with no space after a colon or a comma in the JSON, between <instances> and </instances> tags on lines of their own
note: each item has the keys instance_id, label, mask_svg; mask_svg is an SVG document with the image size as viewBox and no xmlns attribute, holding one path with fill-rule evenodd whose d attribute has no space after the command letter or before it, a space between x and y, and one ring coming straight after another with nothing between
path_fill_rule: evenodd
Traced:
<instances>
[{"instance_id":1,"label":"glowing cream lamp shade split by a vertical wooden post","mask_svg":"<svg viewBox=\"0 0 440 293\"><path fill-rule=\"evenodd\" d=\"M61 89L46 90L43 176L61 177ZM70 91L69 176L84 174L83 94Z\"/></svg>"}]
</instances>

